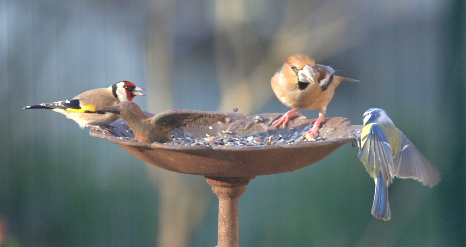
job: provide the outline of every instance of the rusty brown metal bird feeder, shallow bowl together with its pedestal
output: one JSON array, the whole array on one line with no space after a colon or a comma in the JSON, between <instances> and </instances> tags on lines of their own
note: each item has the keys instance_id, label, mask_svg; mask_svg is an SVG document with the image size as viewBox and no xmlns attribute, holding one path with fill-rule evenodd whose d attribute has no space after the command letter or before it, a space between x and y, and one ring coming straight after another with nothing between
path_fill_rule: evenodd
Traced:
<instances>
[{"instance_id":1,"label":"rusty brown metal bird feeder, shallow bowl together with its pedestal","mask_svg":"<svg viewBox=\"0 0 466 247\"><path fill-rule=\"evenodd\" d=\"M281 113L247 117L228 113L217 123L198 128L171 130L174 138L260 137L298 140L315 119L295 117L287 128L274 129L272 122ZM343 144L360 136L362 125L351 125L348 119L325 118L319 130L321 140L269 145L181 145L147 143L134 140L132 130L123 120L110 124L113 130L90 130L93 137L108 139L137 158L169 170L206 177L219 198L218 247L238 247L238 198L256 176L291 172L327 157ZM353 136L349 134L352 133ZM281 137L281 138L279 138ZM252 139L252 138L251 138Z\"/></svg>"}]
</instances>

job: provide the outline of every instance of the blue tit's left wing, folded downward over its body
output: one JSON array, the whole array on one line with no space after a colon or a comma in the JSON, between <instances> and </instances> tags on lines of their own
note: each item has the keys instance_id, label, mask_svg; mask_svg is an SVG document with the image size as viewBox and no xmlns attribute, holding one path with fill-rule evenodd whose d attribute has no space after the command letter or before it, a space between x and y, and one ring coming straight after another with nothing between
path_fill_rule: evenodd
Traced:
<instances>
[{"instance_id":1,"label":"blue tit's left wing, folded downward over its body","mask_svg":"<svg viewBox=\"0 0 466 247\"><path fill-rule=\"evenodd\" d=\"M366 132L369 129L368 133ZM364 131L366 129L366 131ZM366 132L367 134L364 135ZM392 182L393 158L391 147L384 132L376 123L369 123L363 127L361 152L359 159L366 167L372 178L381 173L384 183L388 186Z\"/></svg>"}]
</instances>

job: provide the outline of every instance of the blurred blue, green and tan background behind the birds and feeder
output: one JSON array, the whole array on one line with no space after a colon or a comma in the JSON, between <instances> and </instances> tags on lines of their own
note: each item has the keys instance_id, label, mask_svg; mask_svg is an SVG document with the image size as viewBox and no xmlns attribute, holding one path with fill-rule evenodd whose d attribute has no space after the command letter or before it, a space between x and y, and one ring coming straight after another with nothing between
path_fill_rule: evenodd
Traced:
<instances>
[{"instance_id":1,"label":"blurred blue, green and tan background behind the birds and feeder","mask_svg":"<svg viewBox=\"0 0 466 247\"><path fill-rule=\"evenodd\" d=\"M205 178L21 108L129 80L151 112L285 112L270 78L298 52L361 81L336 89L327 117L362 124L383 108L442 180L395 179L392 219L376 220L373 179L346 144L253 179L240 246L465 246L465 13L462 0L0 0L0 246L215 246Z\"/></svg>"}]
</instances>

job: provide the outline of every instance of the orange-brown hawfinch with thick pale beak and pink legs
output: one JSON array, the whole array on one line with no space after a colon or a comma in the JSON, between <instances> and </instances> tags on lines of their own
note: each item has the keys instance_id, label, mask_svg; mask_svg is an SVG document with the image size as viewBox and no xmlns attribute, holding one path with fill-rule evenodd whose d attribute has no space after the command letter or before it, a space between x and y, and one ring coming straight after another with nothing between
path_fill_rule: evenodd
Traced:
<instances>
[{"instance_id":1,"label":"orange-brown hawfinch with thick pale beak and pink legs","mask_svg":"<svg viewBox=\"0 0 466 247\"><path fill-rule=\"evenodd\" d=\"M325 116L327 105L340 82L359 81L335 75L334 69L316 64L308 55L295 54L288 57L283 67L275 71L270 84L278 100L293 109L275 120L274 128L278 128L280 124L285 128L289 119L300 113L295 112L296 110L318 109L319 117L313 127L307 131L315 135Z\"/></svg>"}]
</instances>

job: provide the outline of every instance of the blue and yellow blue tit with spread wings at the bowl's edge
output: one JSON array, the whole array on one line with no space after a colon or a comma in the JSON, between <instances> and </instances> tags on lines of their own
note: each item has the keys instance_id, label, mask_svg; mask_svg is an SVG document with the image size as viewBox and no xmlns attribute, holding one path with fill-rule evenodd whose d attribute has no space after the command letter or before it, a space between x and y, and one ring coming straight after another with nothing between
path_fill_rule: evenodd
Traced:
<instances>
[{"instance_id":1,"label":"blue and yellow blue tit with spread wings at the bowl's edge","mask_svg":"<svg viewBox=\"0 0 466 247\"><path fill-rule=\"evenodd\" d=\"M393 177L413 178L429 187L440 180L440 172L382 109L371 108L364 112L358 157L376 184L372 214L377 219L390 220L387 189Z\"/></svg>"}]
</instances>

